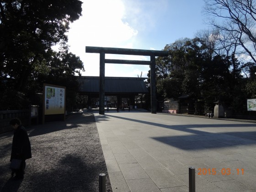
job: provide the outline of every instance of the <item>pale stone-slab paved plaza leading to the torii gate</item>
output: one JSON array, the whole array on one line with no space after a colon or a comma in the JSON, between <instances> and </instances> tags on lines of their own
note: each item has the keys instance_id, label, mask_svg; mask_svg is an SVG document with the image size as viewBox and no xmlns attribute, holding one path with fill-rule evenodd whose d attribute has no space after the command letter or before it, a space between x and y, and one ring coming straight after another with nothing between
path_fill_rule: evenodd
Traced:
<instances>
[{"instance_id":1,"label":"pale stone-slab paved plaza leading to the torii gate","mask_svg":"<svg viewBox=\"0 0 256 192\"><path fill-rule=\"evenodd\" d=\"M256 124L149 112L94 114L114 192L256 191ZM201 174L201 175L198 175Z\"/></svg>"}]
</instances>

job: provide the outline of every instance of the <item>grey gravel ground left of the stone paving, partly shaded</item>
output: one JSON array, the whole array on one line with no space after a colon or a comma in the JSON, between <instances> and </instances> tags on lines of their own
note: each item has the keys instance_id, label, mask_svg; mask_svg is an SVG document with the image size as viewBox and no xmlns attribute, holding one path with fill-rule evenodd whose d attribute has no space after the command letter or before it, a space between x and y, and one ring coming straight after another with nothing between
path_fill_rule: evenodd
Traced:
<instances>
[{"instance_id":1,"label":"grey gravel ground left of the stone paving, partly shaded","mask_svg":"<svg viewBox=\"0 0 256 192\"><path fill-rule=\"evenodd\" d=\"M32 159L20 181L10 179L13 133L0 134L1 192L97 192L100 173L106 173L106 191L112 192L93 114L76 113L27 132Z\"/></svg>"}]
</instances>

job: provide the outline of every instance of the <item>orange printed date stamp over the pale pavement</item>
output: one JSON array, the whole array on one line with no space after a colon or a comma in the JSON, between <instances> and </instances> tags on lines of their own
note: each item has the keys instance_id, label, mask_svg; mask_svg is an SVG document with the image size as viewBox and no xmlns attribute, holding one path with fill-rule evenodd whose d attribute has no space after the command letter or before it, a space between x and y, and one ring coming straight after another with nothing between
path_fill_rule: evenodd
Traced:
<instances>
[{"instance_id":1,"label":"orange printed date stamp over the pale pavement","mask_svg":"<svg viewBox=\"0 0 256 192\"><path fill-rule=\"evenodd\" d=\"M216 168L198 168L197 175L244 175L244 169L236 169L236 171L232 172L229 168L223 168L219 173L218 172L216 171Z\"/></svg>"}]
</instances>

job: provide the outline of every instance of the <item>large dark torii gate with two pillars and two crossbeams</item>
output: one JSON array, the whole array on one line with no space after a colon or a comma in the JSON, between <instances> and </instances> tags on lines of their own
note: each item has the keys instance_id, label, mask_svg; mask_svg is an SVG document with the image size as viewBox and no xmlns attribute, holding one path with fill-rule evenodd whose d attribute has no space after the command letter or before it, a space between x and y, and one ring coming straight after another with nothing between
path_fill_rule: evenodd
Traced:
<instances>
[{"instance_id":1,"label":"large dark torii gate with two pillars and two crossbeams","mask_svg":"<svg viewBox=\"0 0 256 192\"><path fill-rule=\"evenodd\" d=\"M150 65L150 87L151 87L151 113L156 113L156 80L155 80L155 57L168 56L168 51L155 51L144 49L129 48L104 48L104 47L85 47L85 53L100 53L100 98L99 114L105 114L104 97L105 97L105 63L108 64L142 64ZM123 54L123 55L142 55L150 56L150 61L139 60L121 60L105 59L105 54Z\"/></svg>"}]
</instances>

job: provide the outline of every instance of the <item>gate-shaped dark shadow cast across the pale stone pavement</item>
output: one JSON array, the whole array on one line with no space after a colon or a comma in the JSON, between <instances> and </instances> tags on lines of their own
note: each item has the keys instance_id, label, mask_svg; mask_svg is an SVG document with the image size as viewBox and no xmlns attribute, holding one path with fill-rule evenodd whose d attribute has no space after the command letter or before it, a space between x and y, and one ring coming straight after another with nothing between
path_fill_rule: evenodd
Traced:
<instances>
[{"instance_id":1,"label":"gate-shaped dark shadow cast across the pale stone pavement","mask_svg":"<svg viewBox=\"0 0 256 192\"><path fill-rule=\"evenodd\" d=\"M148 122L138 119L131 119L127 117L118 117L113 115L106 116L184 132L186 135L152 137L152 139L155 139L165 144L172 145L180 149L197 150L208 148L222 148L230 145L235 146L243 144L256 144L256 130L250 132L240 131L241 128L243 127L255 128L254 123L170 125L163 123ZM204 128L204 130L200 128ZM221 133L212 133L205 131L205 128L209 128L209 130L210 128L222 128L222 130ZM225 131L225 128L236 128L238 132L229 132L229 130ZM187 133L191 134L187 135ZM226 144L223 144L223 142L225 141Z\"/></svg>"}]
</instances>

